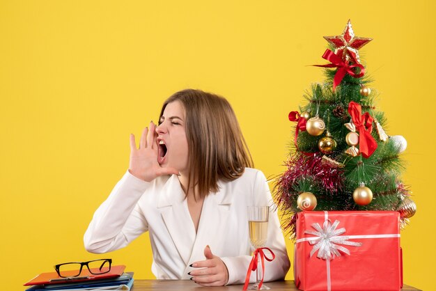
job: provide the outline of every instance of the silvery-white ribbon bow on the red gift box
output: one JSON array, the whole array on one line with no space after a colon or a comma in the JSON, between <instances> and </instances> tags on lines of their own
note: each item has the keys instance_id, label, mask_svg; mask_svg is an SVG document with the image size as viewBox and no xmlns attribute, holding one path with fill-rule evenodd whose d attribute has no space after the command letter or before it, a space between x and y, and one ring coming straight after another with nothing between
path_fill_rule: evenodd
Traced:
<instances>
[{"instance_id":1,"label":"silvery-white ribbon bow on the red gift box","mask_svg":"<svg viewBox=\"0 0 436 291\"><path fill-rule=\"evenodd\" d=\"M318 258L324 260L333 260L335 255L337 257L341 256L341 253L339 253L339 251L350 255L350 251L344 246L340 246L339 244L343 244L346 246L361 246L361 242L349 242L348 239L350 239L350 237L345 235L341 236L343 233L345 233L345 228L336 229L338 224L338 220L334 221L334 223L332 224L332 222L327 219L324 221L322 228L319 223L312 224L312 227L315 228L317 231L304 231L304 233L306 234L315 235L316 237L318 237L309 241L309 244L315 244L311 251L311 257L314 253L316 253L316 251L319 250L318 255L316 255Z\"/></svg>"}]
</instances>

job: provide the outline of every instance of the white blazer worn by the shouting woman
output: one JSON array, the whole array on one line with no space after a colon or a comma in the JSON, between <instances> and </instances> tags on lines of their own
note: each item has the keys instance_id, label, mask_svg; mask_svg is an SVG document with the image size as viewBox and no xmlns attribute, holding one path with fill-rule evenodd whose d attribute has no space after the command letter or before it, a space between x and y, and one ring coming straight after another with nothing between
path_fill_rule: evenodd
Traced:
<instances>
[{"instance_id":1,"label":"white blazer worn by the shouting woman","mask_svg":"<svg viewBox=\"0 0 436 291\"><path fill-rule=\"evenodd\" d=\"M240 178L219 182L219 191L205 197L196 233L176 175L144 182L127 171L95 212L84 244L87 251L106 253L127 246L148 231L152 272L158 279L189 279L187 273L193 270L189 265L205 260L203 251L209 245L226 264L227 284L244 283L254 251L249 241L247 206L270 205L265 246L276 258L265 260L265 281L274 281L285 277L290 262L273 204L265 175L245 168ZM256 281L255 272L250 281Z\"/></svg>"}]
</instances>

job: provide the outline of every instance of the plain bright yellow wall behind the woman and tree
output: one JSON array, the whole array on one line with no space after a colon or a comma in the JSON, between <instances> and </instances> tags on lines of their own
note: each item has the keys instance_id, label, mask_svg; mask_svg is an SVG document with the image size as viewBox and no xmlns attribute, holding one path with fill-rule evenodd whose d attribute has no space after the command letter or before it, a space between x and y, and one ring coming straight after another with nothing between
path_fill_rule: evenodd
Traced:
<instances>
[{"instance_id":1,"label":"plain bright yellow wall behind the woman and tree","mask_svg":"<svg viewBox=\"0 0 436 291\"><path fill-rule=\"evenodd\" d=\"M107 255L82 242L127 169L129 134L171 93L201 88L233 104L256 167L281 173L288 112L324 80L308 65L350 18L374 38L361 58L387 132L408 142L418 212L402 232L404 281L434 290L435 12L430 0L0 1L1 284L104 257L153 278L148 235Z\"/></svg>"}]
</instances>

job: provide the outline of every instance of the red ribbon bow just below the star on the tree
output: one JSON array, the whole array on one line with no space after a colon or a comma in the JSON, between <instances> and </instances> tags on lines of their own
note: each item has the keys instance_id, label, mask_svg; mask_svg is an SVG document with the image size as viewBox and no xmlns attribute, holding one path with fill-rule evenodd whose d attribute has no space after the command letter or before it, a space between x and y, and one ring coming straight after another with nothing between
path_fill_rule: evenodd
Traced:
<instances>
[{"instance_id":1,"label":"red ribbon bow just below the star on the tree","mask_svg":"<svg viewBox=\"0 0 436 291\"><path fill-rule=\"evenodd\" d=\"M354 63L348 64L348 62L343 61L340 56L334 54L334 52L332 52L330 49L326 49L326 51L322 55L322 58L329 61L330 63L328 63L327 65L315 65L316 67L338 68L336 74L334 74L333 91L336 90L336 86L341 84L341 81L343 77L345 77L345 74L348 73L351 77L355 78L363 77L365 74L364 66L361 65L354 56L352 56L352 60L354 61ZM355 73L355 71L353 70L354 68L360 68L359 74Z\"/></svg>"}]
</instances>

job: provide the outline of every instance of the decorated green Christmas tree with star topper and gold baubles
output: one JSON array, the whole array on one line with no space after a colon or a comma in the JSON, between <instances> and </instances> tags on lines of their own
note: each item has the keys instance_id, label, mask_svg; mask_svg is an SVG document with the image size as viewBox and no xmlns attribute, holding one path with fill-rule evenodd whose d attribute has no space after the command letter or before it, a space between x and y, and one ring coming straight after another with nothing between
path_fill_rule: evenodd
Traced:
<instances>
[{"instance_id":1,"label":"decorated green Christmas tree with star topper and gold baubles","mask_svg":"<svg viewBox=\"0 0 436 291\"><path fill-rule=\"evenodd\" d=\"M288 116L295 138L274 187L284 228L295 237L303 210L394 210L405 226L416 212L400 180L407 142L384 132L387 120L375 107L377 94L359 58L372 39L355 36L350 20L340 36L325 39L330 47L322 58L330 63L317 65L325 68L325 82L313 84L307 104Z\"/></svg>"}]
</instances>

